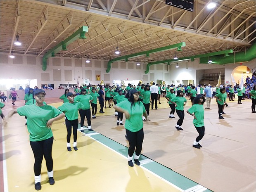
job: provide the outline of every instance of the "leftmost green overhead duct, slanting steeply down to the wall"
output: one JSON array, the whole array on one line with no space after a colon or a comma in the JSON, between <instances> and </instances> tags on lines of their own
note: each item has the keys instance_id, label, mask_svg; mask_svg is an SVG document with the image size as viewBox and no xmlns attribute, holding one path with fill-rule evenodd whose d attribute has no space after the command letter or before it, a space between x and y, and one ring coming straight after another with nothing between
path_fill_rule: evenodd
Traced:
<instances>
[{"instance_id":1,"label":"leftmost green overhead duct, slanting steeply down to the wall","mask_svg":"<svg viewBox=\"0 0 256 192\"><path fill-rule=\"evenodd\" d=\"M55 57L55 53L59 52L60 50L67 50L66 46L72 43L73 41L79 39L86 39L85 33L88 32L88 26L82 26L79 28L75 33L71 36L66 38L64 41L60 42L58 45L47 51L43 56L43 71L47 68L47 59L48 57Z\"/></svg>"}]
</instances>

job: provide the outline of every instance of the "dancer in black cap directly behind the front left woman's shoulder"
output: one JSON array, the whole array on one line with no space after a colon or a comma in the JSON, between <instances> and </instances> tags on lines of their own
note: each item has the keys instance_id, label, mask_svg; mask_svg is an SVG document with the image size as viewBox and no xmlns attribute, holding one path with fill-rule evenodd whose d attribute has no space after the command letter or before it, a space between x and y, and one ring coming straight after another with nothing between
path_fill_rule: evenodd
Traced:
<instances>
[{"instance_id":1,"label":"dancer in black cap directly behind the front left woman's shoulder","mask_svg":"<svg viewBox=\"0 0 256 192\"><path fill-rule=\"evenodd\" d=\"M77 151L77 128L78 128L78 110L80 110L83 107L83 104L80 102L75 101L74 102L74 95L73 93L69 92L66 94L67 99L69 102L63 103L62 106L59 106L58 109L62 111L65 116L65 124L66 124L66 130L68 132L66 136L66 147L69 152L71 152L71 147L70 147L70 137L71 137L71 132L72 132L72 127L73 127L73 148L75 151Z\"/></svg>"}]
</instances>

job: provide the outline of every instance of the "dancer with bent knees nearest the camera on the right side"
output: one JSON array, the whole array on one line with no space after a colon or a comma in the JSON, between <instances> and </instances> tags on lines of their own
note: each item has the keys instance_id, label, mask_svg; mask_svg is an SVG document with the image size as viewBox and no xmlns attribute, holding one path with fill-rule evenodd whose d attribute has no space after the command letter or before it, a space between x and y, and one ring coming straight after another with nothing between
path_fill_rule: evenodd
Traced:
<instances>
[{"instance_id":1,"label":"dancer with bent knees nearest the camera on the right side","mask_svg":"<svg viewBox=\"0 0 256 192\"><path fill-rule=\"evenodd\" d=\"M203 95L197 95L197 97L194 99L194 104L190 109L187 110L187 113L194 117L193 124L197 132L199 133L192 145L197 149L200 149L202 147L199 141L204 137L204 102L205 98L203 97Z\"/></svg>"}]
</instances>

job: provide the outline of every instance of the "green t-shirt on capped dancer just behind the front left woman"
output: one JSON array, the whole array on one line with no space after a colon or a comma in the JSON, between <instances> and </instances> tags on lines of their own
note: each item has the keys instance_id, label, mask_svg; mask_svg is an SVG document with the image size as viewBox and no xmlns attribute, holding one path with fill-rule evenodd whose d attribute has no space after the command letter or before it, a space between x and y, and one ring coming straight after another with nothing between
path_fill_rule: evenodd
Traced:
<instances>
[{"instance_id":1,"label":"green t-shirt on capped dancer just behind the front left woman","mask_svg":"<svg viewBox=\"0 0 256 192\"><path fill-rule=\"evenodd\" d=\"M80 102L74 101L73 103L63 103L58 109L65 113L66 119L73 121L78 119L78 110L83 107Z\"/></svg>"}]
</instances>

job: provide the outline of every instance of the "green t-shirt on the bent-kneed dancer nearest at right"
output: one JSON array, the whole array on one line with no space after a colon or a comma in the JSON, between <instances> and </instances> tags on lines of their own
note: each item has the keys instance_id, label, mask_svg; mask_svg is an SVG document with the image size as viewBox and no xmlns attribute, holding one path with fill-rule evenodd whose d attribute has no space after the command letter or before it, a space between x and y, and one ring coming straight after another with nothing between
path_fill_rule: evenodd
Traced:
<instances>
[{"instance_id":1,"label":"green t-shirt on the bent-kneed dancer nearest at right","mask_svg":"<svg viewBox=\"0 0 256 192\"><path fill-rule=\"evenodd\" d=\"M193 124L196 127L204 126L204 105L194 104L190 109L187 110L191 114L194 113L197 119L193 120Z\"/></svg>"}]
</instances>

